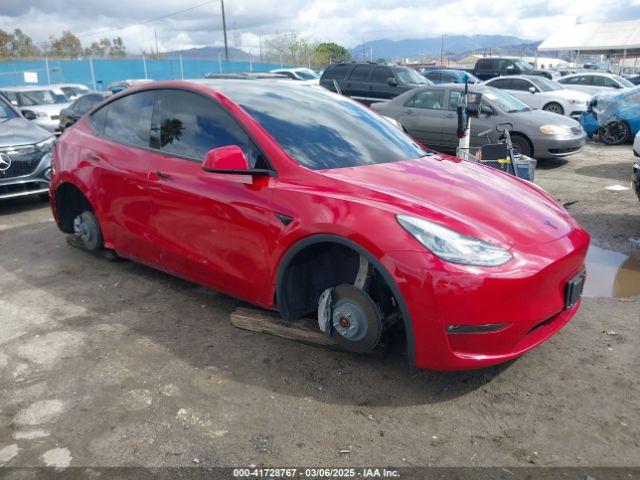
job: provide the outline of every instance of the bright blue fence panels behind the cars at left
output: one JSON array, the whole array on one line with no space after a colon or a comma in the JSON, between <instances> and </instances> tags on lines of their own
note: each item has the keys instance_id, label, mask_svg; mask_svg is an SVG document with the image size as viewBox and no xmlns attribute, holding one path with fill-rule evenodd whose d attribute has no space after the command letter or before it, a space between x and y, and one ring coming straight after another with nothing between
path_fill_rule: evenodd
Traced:
<instances>
[{"instance_id":1,"label":"bright blue fence panels behind the cars at left","mask_svg":"<svg viewBox=\"0 0 640 480\"><path fill-rule=\"evenodd\" d=\"M111 82L125 79L147 78L153 80L178 80L181 77L179 58L142 61L142 58L122 60L93 60L93 71L98 90ZM271 63L250 64L246 61L219 62L218 59L184 59L182 70L184 78L202 78L209 72L268 72L280 65ZM24 81L24 72L36 72L38 85L47 85L47 69L44 59L33 61L0 62L0 87L33 85ZM93 88L91 66L88 59L49 60L51 83L82 83Z\"/></svg>"}]
</instances>

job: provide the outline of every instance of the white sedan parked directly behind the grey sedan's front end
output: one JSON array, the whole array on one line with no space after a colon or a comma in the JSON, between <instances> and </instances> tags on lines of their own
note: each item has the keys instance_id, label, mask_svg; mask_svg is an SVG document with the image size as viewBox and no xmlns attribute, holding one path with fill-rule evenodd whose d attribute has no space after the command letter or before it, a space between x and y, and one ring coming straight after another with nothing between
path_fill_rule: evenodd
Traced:
<instances>
[{"instance_id":1,"label":"white sedan parked directly behind the grey sedan's front end","mask_svg":"<svg viewBox=\"0 0 640 480\"><path fill-rule=\"evenodd\" d=\"M488 80L486 84L504 90L531 108L578 119L587 109L591 95L569 90L553 80L535 75L516 75Z\"/></svg>"}]
</instances>

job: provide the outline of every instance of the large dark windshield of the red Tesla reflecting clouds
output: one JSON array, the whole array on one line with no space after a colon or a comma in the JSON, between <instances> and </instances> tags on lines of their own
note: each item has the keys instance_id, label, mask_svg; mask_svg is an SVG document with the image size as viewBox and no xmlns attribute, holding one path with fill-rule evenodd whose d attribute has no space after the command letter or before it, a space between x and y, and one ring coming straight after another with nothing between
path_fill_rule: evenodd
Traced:
<instances>
[{"instance_id":1,"label":"large dark windshield of the red Tesla reflecting clouds","mask_svg":"<svg viewBox=\"0 0 640 480\"><path fill-rule=\"evenodd\" d=\"M312 170L422 157L427 152L370 109L323 88L225 81L216 90L239 104L299 164Z\"/></svg>"}]
</instances>

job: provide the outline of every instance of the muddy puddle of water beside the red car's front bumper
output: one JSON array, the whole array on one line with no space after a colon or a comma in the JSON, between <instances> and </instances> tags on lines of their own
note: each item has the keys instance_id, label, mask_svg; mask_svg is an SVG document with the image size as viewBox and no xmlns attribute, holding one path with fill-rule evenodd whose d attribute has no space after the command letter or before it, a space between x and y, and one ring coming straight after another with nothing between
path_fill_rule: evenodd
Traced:
<instances>
[{"instance_id":1,"label":"muddy puddle of water beside the red car's front bumper","mask_svg":"<svg viewBox=\"0 0 640 480\"><path fill-rule=\"evenodd\" d=\"M591 245L587 252L584 297L628 298L640 295L640 260Z\"/></svg>"}]
</instances>

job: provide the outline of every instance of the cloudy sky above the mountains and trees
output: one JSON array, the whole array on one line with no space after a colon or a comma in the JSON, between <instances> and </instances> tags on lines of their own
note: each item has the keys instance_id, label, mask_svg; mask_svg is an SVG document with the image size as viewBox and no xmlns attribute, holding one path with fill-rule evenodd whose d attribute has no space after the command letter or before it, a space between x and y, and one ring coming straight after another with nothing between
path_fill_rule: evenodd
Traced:
<instances>
[{"instance_id":1,"label":"cloudy sky above the mountains and trees","mask_svg":"<svg viewBox=\"0 0 640 480\"><path fill-rule=\"evenodd\" d=\"M129 53L222 45L219 0L1 0L0 29L37 44L63 30L83 45L121 36ZM150 19L202 5L161 20ZM354 47L363 41L441 34L504 34L542 40L575 23L640 18L640 0L225 0L229 45L256 53L260 38L298 31ZM127 28L124 28L127 27ZM116 29L121 29L114 31Z\"/></svg>"}]
</instances>

